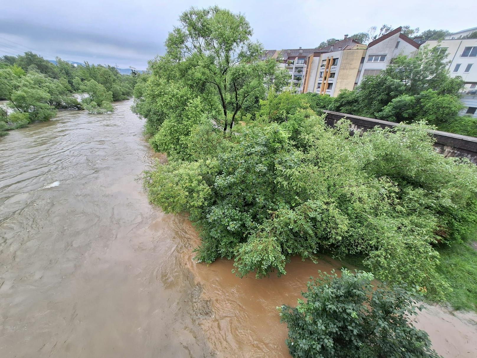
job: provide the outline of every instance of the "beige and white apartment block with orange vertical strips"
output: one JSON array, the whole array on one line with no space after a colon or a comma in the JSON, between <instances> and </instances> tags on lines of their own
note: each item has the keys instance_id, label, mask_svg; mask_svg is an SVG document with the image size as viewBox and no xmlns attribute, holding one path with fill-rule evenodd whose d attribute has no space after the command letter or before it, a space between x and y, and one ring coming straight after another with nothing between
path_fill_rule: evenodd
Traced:
<instances>
[{"instance_id":1,"label":"beige and white apartment block with orange vertical strips","mask_svg":"<svg viewBox=\"0 0 477 358\"><path fill-rule=\"evenodd\" d=\"M366 45L344 36L344 40L307 56L303 93L337 96L341 89L352 90L360 71Z\"/></svg>"}]
</instances>

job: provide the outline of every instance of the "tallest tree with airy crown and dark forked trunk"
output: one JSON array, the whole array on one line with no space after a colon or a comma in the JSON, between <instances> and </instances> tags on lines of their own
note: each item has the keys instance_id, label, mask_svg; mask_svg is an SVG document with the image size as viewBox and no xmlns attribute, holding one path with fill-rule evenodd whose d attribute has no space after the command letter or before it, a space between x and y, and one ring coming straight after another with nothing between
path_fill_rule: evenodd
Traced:
<instances>
[{"instance_id":1,"label":"tallest tree with airy crown and dark forked trunk","mask_svg":"<svg viewBox=\"0 0 477 358\"><path fill-rule=\"evenodd\" d=\"M264 81L273 81L278 64L274 59L259 61L263 48L250 40L252 29L241 14L217 6L191 8L179 21L166 40L166 56L187 85L215 97L210 100L221 106L224 131L228 124L232 128L244 106L263 98Z\"/></svg>"}]
</instances>

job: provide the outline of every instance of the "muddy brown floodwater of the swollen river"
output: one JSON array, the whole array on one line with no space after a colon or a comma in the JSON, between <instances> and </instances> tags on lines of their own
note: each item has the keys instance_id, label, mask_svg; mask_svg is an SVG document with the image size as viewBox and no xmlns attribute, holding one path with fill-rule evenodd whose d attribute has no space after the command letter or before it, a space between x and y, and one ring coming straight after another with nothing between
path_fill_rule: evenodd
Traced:
<instances>
[{"instance_id":1,"label":"muddy brown floodwater of the swollen river","mask_svg":"<svg viewBox=\"0 0 477 358\"><path fill-rule=\"evenodd\" d=\"M186 217L148 204L143 122L62 111L0 138L0 357L289 357L275 307L342 263L292 259L280 278L194 263ZM430 307L445 357L476 357L477 317Z\"/></svg>"}]
</instances>

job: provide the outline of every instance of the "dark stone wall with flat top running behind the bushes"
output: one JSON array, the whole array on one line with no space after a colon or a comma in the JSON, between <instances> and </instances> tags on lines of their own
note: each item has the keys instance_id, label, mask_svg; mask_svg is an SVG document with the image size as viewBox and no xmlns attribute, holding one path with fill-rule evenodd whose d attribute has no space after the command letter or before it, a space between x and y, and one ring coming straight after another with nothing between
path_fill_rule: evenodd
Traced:
<instances>
[{"instance_id":1,"label":"dark stone wall with flat top running behind the bushes","mask_svg":"<svg viewBox=\"0 0 477 358\"><path fill-rule=\"evenodd\" d=\"M325 111L325 121L329 126L334 126L340 119L346 117L351 121L351 130L356 131L366 131L375 126L380 126L382 128L394 128L399 126L399 123L382 121L380 119L360 117L348 115L345 113ZM477 138L476 137L467 137L461 136L459 134L441 132L438 130L430 130L430 133L436 138L436 147L437 153L441 153L446 157L462 157L468 158L473 163L477 164Z\"/></svg>"}]
</instances>

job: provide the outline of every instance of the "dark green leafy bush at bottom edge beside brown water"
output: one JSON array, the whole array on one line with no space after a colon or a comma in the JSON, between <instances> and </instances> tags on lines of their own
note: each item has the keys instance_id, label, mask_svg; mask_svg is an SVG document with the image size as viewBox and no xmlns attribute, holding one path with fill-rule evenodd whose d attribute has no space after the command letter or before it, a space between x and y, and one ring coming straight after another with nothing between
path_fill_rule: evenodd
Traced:
<instances>
[{"instance_id":1,"label":"dark green leafy bush at bottom edge beside brown water","mask_svg":"<svg viewBox=\"0 0 477 358\"><path fill-rule=\"evenodd\" d=\"M402 287L372 285L373 275L342 269L307 284L296 307L277 307L288 325L293 357L439 357L416 329L414 296Z\"/></svg>"}]
</instances>

